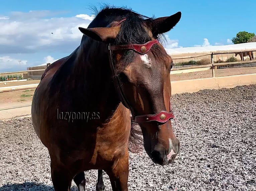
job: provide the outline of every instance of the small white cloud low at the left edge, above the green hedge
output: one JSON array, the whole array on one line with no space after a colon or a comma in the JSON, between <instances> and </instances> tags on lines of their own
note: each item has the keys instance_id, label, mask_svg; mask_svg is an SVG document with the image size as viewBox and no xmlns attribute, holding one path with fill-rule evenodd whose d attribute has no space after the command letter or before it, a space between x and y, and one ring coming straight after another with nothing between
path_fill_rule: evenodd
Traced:
<instances>
[{"instance_id":1,"label":"small white cloud low at the left edge, above the green hedge","mask_svg":"<svg viewBox=\"0 0 256 191\"><path fill-rule=\"evenodd\" d=\"M27 64L27 60L18 60L9 56L0 57L0 71L10 68L22 68Z\"/></svg>"}]
</instances>

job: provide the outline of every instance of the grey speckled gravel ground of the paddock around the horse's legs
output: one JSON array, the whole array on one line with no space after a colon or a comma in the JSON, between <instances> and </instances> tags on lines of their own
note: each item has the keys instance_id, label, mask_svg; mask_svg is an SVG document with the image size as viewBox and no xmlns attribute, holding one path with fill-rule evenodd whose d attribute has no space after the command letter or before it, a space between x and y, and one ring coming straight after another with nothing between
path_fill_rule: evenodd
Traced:
<instances>
[{"instance_id":1,"label":"grey speckled gravel ground of the paddock around the horse's legs","mask_svg":"<svg viewBox=\"0 0 256 191\"><path fill-rule=\"evenodd\" d=\"M161 167L130 154L129 191L256 191L256 86L172 96L180 154ZM31 118L0 121L0 190L51 190L50 159ZM96 190L97 171L86 172ZM104 183L111 190L104 172ZM77 190L72 182L72 190Z\"/></svg>"}]
</instances>

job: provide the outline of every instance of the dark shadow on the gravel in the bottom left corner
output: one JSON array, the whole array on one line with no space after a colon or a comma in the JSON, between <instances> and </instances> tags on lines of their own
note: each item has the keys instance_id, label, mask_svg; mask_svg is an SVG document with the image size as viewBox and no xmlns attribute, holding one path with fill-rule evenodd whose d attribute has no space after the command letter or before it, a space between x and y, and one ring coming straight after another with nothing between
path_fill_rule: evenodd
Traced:
<instances>
[{"instance_id":1,"label":"dark shadow on the gravel in the bottom left corner","mask_svg":"<svg viewBox=\"0 0 256 191\"><path fill-rule=\"evenodd\" d=\"M37 182L24 182L21 184L4 184L0 187L1 191L54 191L53 186ZM71 186L71 191L78 191L76 186Z\"/></svg>"}]
</instances>

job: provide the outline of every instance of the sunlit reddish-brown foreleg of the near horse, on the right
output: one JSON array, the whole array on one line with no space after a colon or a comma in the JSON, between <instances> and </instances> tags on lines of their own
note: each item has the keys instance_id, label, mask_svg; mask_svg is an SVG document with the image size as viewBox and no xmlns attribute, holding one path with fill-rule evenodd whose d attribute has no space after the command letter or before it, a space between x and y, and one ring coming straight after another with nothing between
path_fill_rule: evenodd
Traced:
<instances>
[{"instance_id":1,"label":"sunlit reddish-brown foreleg of the near horse, on the right","mask_svg":"<svg viewBox=\"0 0 256 191\"><path fill-rule=\"evenodd\" d=\"M128 149L124 156L117 159L112 165L111 169L104 169L108 174L113 191L127 191L128 190Z\"/></svg>"}]
</instances>

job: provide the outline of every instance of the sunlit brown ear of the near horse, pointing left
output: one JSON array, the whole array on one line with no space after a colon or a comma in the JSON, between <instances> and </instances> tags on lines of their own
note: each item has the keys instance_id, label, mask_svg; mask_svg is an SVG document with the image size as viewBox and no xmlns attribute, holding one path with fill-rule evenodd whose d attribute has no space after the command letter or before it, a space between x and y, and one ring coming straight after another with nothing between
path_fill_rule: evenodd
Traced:
<instances>
[{"instance_id":1,"label":"sunlit brown ear of the near horse, pointing left","mask_svg":"<svg viewBox=\"0 0 256 191\"><path fill-rule=\"evenodd\" d=\"M100 42L108 42L111 39L115 39L119 30L119 27L99 27L85 29L78 27L78 29L86 36Z\"/></svg>"}]
</instances>

